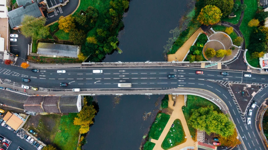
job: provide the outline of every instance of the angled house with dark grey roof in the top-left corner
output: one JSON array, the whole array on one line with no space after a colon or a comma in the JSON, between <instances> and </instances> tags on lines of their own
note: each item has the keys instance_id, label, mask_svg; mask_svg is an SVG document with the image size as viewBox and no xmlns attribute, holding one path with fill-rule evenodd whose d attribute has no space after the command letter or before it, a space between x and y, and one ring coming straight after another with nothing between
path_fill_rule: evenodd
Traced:
<instances>
[{"instance_id":1,"label":"angled house with dark grey roof in the top-left corner","mask_svg":"<svg viewBox=\"0 0 268 150\"><path fill-rule=\"evenodd\" d=\"M25 4L25 7L22 6L8 12L8 23L12 29L16 30L22 26L21 22L25 15L34 16L35 18L45 17L37 2L27 4Z\"/></svg>"}]
</instances>

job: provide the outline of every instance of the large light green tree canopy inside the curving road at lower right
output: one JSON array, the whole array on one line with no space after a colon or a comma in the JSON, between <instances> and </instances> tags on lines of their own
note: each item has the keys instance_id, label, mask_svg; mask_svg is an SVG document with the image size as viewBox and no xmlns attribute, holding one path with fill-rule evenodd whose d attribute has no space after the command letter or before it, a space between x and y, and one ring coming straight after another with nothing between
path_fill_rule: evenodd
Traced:
<instances>
[{"instance_id":1,"label":"large light green tree canopy inside the curving road at lower right","mask_svg":"<svg viewBox=\"0 0 268 150\"><path fill-rule=\"evenodd\" d=\"M189 122L195 129L204 130L208 134L216 133L222 137L231 136L235 127L227 115L214 111L213 106L193 110Z\"/></svg>"}]
</instances>

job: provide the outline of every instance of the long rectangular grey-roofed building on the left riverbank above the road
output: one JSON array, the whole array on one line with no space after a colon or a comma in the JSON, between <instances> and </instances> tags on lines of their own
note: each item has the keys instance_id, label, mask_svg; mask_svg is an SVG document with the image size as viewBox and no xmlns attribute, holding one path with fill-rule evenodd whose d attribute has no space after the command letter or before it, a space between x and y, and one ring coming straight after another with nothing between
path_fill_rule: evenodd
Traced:
<instances>
[{"instance_id":1,"label":"long rectangular grey-roofed building on the left riverbank above the road","mask_svg":"<svg viewBox=\"0 0 268 150\"><path fill-rule=\"evenodd\" d=\"M51 43L38 43L37 54L47 55L48 57L74 57L78 58L79 46L64 45L64 44L51 44Z\"/></svg>"}]
</instances>

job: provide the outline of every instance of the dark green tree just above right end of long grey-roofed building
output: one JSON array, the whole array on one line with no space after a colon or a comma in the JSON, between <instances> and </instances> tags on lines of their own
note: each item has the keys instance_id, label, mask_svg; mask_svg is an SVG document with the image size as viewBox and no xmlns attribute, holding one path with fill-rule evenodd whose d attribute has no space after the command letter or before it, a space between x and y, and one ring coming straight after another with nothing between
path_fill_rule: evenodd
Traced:
<instances>
[{"instance_id":1,"label":"dark green tree just above right end of long grey-roofed building","mask_svg":"<svg viewBox=\"0 0 268 150\"><path fill-rule=\"evenodd\" d=\"M71 29L69 34L69 40L74 42L76 45L81 45L85 43L85 32L83 30Z\"/></svg>"}]
</instances>

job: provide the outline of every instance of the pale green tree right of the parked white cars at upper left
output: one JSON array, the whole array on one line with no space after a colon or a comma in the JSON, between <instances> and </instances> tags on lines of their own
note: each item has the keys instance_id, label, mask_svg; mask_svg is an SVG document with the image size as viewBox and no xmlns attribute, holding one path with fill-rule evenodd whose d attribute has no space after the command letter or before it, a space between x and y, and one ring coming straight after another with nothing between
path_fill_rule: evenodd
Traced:
<instances>
[{"instance_id":1,"label":"pale green tree right of the parked white cars at upper left","mask_svg":"<svg viewBox=\"0 0 268 150\"><path fill-rule=\"evenodd\" d=\"M49 28L45 26L46 18L35 18L25 15L22 19L23 26L20 28L21 33L26 37L36 39L45 39L49 35Z\"/></svg>"}]
</instances>

